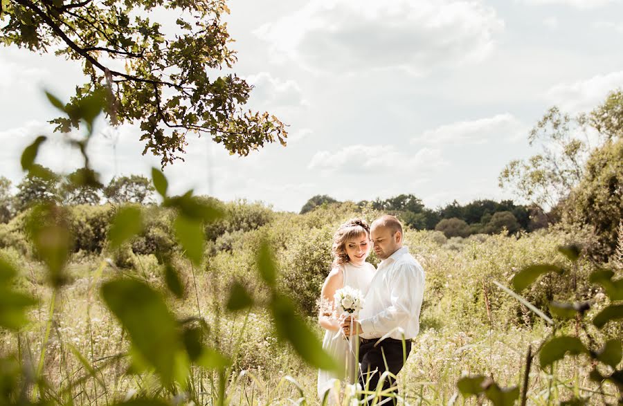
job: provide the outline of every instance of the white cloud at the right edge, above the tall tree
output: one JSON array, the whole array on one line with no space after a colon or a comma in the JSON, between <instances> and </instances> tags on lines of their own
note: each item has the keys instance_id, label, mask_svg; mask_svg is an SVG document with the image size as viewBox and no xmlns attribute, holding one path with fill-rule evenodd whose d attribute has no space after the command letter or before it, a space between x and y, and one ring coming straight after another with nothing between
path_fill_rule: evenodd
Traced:
<instances>
[{"instance_id":1,"label":"white cloud at the right edge, above the tall tree","mask_svg":"<svg viewBox=\"0 0 623 406\"><path fill-rule=\"evenodd\" d=\"M623 87L623 71L596 75L588 80L558 84L545 92L545 99L572 113L593 109L609 92Z\"/></svg>"}]
</instances>

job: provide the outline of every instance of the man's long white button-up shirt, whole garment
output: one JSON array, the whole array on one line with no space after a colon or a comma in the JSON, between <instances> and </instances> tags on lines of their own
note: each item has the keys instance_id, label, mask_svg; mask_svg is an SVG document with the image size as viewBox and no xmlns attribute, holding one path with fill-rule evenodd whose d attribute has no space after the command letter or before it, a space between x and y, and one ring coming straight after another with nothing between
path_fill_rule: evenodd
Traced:
<instances>
[{"instance_id":1,"label":"man's long white button-up shirt, whole garment","mask_svg":"<svg viewBox=\"0 0 623 406\"><path fill-rule=\"evenodd\" d=\"M419 311L424 298L424 269L400 248L381 261L365 295L359 313L362 338L381 338L392 331L391 338L414 338L419 332Z\"/></svg>"}]
</instances>

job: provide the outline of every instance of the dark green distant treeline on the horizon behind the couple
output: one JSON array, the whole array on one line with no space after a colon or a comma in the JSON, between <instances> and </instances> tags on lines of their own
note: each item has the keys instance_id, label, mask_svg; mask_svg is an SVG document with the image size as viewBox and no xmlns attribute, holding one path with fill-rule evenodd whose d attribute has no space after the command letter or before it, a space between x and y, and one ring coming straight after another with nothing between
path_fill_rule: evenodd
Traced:
<instances>
[{"instance_id":1,"label":"dark green distant treeline on the horizon behind the couple","mask_svg":"<svg viewBox=\"0 0 623 406\"><path fill-rule=\"evenodd\" d=\"M342 203L327 195L309 199L300 214L322 205ZM497 234L507 230L513 234L521 230L531 232L548 225L548 216L536 205L516 205L511 200L476 200L466 205L457 201L436 210L424 206L413 194L399 194L389 199L360 201L359 207L395 214L415 230L438 230L446 237L468 237L471 234Z\"/></svg>"}]
</instances>

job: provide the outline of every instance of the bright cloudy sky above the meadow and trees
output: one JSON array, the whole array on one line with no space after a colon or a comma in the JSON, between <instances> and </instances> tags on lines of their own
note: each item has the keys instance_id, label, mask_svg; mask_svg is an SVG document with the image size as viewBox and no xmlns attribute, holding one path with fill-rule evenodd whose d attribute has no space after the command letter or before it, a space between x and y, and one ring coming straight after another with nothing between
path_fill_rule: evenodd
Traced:
<instances>
[{"instance_id":1,"label":"bright cloudy sky above the meadow and trees","mask_svg":"<svg viewBox=\"0 0 623 406\"><path fill-rule=\"evenodd\" d=\"M590 111L623 87L623 0L230 0L233 71L254 84L249 107L289 125L288 145L230 156L189 136L184 161L165 168L173 193L263 201L298 212L307 199L414 194L513 199L498 187L507 163L538 150L528 131L548 108ZM174 16L172 18L175 18ZM84 83L80 64L0 46L0 176L14 185L22 149L51 136L37 162L81 166L46 120ZM101 122L91 140L107 182L143 174L132 125Z\"/></svg>"}]
</instances>

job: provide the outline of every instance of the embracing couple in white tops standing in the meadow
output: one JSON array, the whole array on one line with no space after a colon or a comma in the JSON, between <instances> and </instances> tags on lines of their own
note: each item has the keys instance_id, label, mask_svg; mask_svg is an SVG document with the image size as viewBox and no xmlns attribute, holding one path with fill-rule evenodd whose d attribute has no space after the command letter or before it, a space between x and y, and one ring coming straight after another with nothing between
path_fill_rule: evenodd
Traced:
<instances>
[{"instance_id":1,"label":"embracing couple in white tops standing in the meadow","mask_svg":"<svg viewBox=\"0 0 623 406\"><path fill-rule=\"evenodd\" d=\"M361 219L351 219L334 234L333 269L325 279L320 301L329 306L320 307L318 322L326 330L323 348L346 366L346 376L318 371L320 399L332 391L336 379L358 382L362 388L375 391L383 372L395 376L403 367L411 339L419 331L424 296L424 270L403 245L403 237L395 216L381 216L370 226ZM365 261L370 249L381 259L377 269ZM334 316L334 293L345 286L363 294L359 317ZM340 333L349 339L336 339ZM395 385L388 376L383 390ZM329 398L334 396L329 392Z\"/></svg>"}]
</instances>

